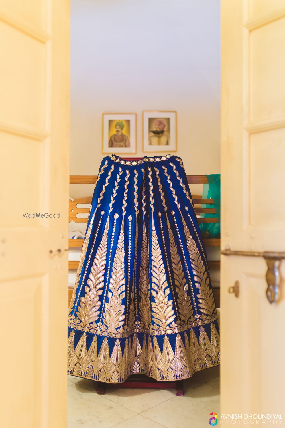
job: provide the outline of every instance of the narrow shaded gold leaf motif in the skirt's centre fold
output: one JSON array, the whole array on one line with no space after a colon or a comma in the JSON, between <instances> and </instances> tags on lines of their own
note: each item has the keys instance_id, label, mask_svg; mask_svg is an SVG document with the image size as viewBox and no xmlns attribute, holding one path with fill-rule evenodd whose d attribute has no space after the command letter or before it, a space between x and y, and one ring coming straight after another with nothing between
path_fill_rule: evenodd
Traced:
<instances>
[{"instance_id":1,"label":"narrow shaded gold leaf motif in the skirt's centre fold","mask_svg":"<svg viewBox=\"0 0 285 428\"><path fill-rule=\"evenodd\" d=\"M148 328L150 325L150 281L148 276L148 256L147 256L147 231L144 223L142 244L141 244L141 269L139 280L139 295L141 300L138 302L141 324Z\"/></svg>"}]
</instances>

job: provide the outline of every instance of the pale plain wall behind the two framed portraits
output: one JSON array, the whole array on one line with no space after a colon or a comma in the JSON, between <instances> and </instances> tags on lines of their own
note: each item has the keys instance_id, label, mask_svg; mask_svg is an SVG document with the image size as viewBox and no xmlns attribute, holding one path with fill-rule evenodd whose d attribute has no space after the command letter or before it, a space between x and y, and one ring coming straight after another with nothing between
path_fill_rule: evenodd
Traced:
<instances>
[{"instance_id":1,"label":"pale plain wall behind the two framed portraits","mask_svg":"<svg viewBox=\"0 0 285 428\"><path fill-rule=\"evenodd\" d=\"M145 155L142 110L177 111L188 174L220 172L219 0L71 0L71 174L97 175L102 113L137 113Z\"/></svg>"}]
</instances>

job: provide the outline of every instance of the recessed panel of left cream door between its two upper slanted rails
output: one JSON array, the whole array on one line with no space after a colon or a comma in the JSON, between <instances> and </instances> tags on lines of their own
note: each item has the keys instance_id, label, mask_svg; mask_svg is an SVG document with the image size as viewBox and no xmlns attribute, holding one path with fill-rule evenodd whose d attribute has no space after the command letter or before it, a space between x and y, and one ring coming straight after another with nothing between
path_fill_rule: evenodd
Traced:
<instances>
[{"instance_id":1,"label":"recessed panel of left cream door between its two upper slanted rails","mask_svg":"<svg viewBox=\"0 0 285 428\"><path fill-rule=\"evenodd\" d=\"M7 43L9 40L9 43ZM17 28L0 21L1 93L17 94L0 104L1 122L35 128L45 128L47 103L47 44L24 36ZM29 108L23 108L27 105Z\"/></svg>"}]
</instances>

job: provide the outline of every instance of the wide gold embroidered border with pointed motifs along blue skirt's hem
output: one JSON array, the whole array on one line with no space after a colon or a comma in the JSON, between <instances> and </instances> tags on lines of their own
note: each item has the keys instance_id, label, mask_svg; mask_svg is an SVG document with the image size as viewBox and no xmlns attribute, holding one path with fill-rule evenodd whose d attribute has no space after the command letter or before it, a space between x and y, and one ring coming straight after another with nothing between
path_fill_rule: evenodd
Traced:
<instances>
[{"instance_id":1,"label":"wide gold embroidered border with pointed motifs along blue skirt's hem","mask_svg":"<svg viewBox=\"0 0 285 428\"><path fill-rule=\"evenodd\" d=\"M88 351L86 333L83 333L74 347L74 331L70 333L68 345L68 373L86 379L108 383L124 382L129 375L144 373L156 380L177 380L191 377L194 372L207 367L217 366L219 358L219 335L214 324L211 325L210 337L200 327L197 339L193 330L177 334L174 347L167 336L164 337L162 351L156 337L153 344L146 335L143 343L138 336L126 339L123 351L120 339L115 340L113 349L109 348L105 338L98 349L97 336L94 336ZM183 343L184 342L184 343Z\"/></svg>"}]
</instances>

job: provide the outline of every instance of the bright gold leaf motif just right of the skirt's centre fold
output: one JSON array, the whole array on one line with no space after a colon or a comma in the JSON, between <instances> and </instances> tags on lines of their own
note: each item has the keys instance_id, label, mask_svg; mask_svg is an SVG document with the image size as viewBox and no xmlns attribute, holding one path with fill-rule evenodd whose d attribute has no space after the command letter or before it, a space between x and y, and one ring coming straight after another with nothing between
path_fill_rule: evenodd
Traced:
<instances>
[{"instance_id":1,"label":"bright gold leaf motif just right of the skirt's centre fold","mask_svg":"<svg viewBox=\"0 0 285 428\"><path fill-rule=\"evenodd\" d=\"M159 247L156 230L153 226L151 244L151 273L152 290L154 302L151 303L154 322L162 328L170 324L175 315L173 311L173 301L168 300L169 287L166 281L165 268L162 261L162 254Z\"/></svg>"}]
</instances>

